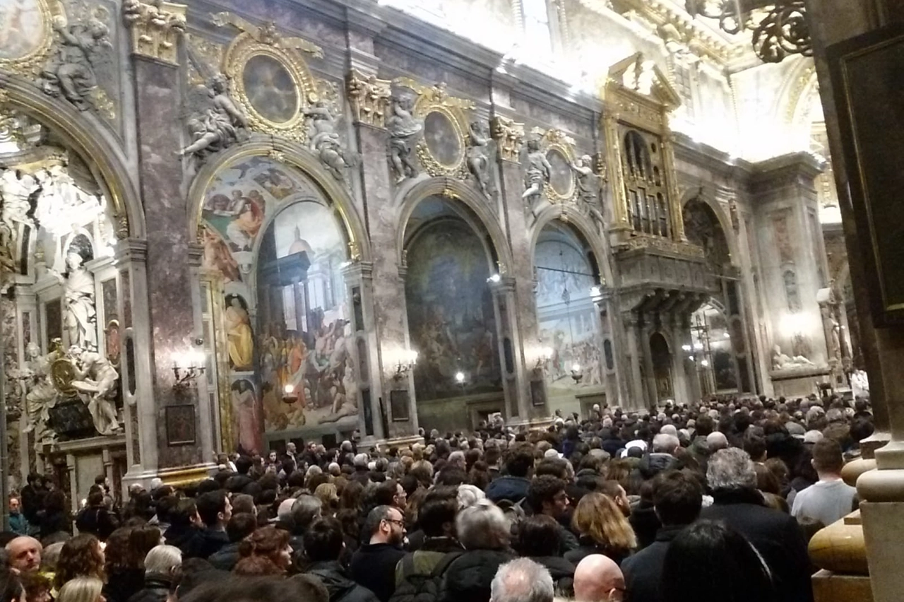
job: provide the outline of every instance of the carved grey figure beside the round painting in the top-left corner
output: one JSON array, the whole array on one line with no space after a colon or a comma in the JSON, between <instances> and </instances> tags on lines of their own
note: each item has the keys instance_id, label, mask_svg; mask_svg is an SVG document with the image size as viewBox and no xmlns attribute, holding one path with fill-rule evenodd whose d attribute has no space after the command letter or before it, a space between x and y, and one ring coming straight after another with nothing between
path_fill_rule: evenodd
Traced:
<instances>
[{"instance_id":1,"label":"carved grey figure beside the round painting in the top-left corner","mask_svg":"<svg viewBox=\"0 0 904 602\"><path fill-rule=\"evenodd\" d=\"M112 49L109 28L97 18L87 24L67 25L61 15L53 18L53 30L60 36L57 56L42 72L42 89L51 96L62 94L76 108L91 108L90 93L98 87L94 63L98 52Z\"/></svg>"}]
</instances>

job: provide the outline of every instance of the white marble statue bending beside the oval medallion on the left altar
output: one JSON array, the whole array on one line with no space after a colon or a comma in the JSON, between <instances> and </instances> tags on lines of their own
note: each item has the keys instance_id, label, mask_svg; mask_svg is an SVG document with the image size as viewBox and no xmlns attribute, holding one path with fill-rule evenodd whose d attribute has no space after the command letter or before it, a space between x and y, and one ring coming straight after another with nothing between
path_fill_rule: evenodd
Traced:
<instances>
[{"instance_id":1,"label":"white marble statue bending beside the oval medallion on the left altar","mask_svg":"<svg viewBox=\"0 0 904 602\"><path fill-rule=\"evenodd\" d=\"M78 345L72 345L67 355L76 368L76 380L72 381L72 387L82 394L82 400L87 400L94 428L101 435L115 435L121 428L112 402L116 396L119 372L100 353Z\"/></svg>"}]
</instances>

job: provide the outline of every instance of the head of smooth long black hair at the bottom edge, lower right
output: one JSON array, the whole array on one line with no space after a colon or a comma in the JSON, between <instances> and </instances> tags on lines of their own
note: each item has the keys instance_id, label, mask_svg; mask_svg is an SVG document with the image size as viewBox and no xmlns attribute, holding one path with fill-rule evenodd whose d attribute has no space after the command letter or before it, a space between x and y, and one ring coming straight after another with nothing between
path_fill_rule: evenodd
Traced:
<instances>
[{"instance_id":1,"label":"head of smooth long black hair at the bottom edge, lower right","mask_svg":"<svg viewBox=\"0 0 904 602\"><path fill-rule=\"evenodd\" d=\"M678 534L665 552L664 602L777 602L759 553L738 531L702 521Z\"/></svg>"}]
</instances>

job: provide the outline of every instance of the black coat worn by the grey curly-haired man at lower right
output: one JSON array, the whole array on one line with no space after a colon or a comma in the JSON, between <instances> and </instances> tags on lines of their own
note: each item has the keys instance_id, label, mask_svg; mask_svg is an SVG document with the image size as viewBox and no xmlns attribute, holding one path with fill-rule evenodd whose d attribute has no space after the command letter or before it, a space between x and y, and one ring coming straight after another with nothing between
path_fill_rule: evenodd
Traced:
<instances>
[{"instance_id":1,"label":"black coat worn by the grey curly-haired man at lower right","mask_svg":"<svg viewBox=\"0 0 904 602\"><path fill-rule=\"evenodd\" d=\"M766 560L782 602L813 602L804 531L793 516L767 508L757 490L717 490L700 518L739 531Z\"/></svg>"}]
</instances>

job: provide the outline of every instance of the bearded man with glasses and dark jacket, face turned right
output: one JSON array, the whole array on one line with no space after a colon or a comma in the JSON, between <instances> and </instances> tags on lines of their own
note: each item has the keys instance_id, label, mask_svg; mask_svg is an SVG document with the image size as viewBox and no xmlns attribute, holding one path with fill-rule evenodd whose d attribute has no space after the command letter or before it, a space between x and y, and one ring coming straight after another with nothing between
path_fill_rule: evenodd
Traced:
<instances>
[{"instance_id":1,"label":"bearded man with glasses and dark jacket, face turned right","mask_svg":"<svg viewBox=\"0 0 904 602\"><path fill-rule=\"evenodd\" d=\"M387 602L395 591L396 565L405 555L405 519L398 508L377 506L367 515L363 532L371 538L352 556L352 578Z\"/></svg>"}]
</instances>

